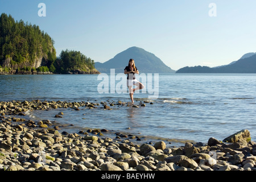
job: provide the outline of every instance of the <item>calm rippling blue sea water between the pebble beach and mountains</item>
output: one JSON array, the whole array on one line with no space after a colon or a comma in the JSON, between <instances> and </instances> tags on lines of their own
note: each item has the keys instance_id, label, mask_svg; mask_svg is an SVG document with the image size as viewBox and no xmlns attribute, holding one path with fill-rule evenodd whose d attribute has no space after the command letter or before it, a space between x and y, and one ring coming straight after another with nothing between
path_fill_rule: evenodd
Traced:
<instances>
[{"instance_id":1,"label":"calm rippling blue sea water between the pebble beach and mountains","mask_svg":"<svg viewBox=\"0 0 256 182\"><path fill-rule=\"evenodd\" d=\"M97 78L98 75L0 76L0 101L130 101L128 93L98 93L102 80ZM110 87L109 81L109 91ZM152 94L148 92L135 93L135 104L153 103L146 103L146 107L36 110L26 117L73 124L63 128L73 133L86 128L108 129L113 134L125 132L146 136L147 141L164 139L172 144L188 140L207 143L210 137L222 140L243 129L249 130L251 139L256 141L255 74L159 74L158 90L159 97L150 100ZM63 118L54 118L59 111L63 111Z\"/></svg>"}]
</instances>

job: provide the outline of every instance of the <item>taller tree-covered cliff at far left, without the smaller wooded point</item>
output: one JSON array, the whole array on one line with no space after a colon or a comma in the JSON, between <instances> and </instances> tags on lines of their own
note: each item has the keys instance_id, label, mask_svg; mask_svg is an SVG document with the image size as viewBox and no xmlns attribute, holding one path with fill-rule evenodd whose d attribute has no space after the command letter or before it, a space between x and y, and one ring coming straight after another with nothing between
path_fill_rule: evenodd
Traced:
<instances>
[{"instance_id":1,"label":"taller tree-covered cliff at far left, without the smaller wooded point","mask_svg":"<svg viewBox=\"0 0 256 182\"><path fill-rule=\"evenodd\" d=\"M6 14L0 16L0 65L5 71L31 71L50 67L56 60L53 39L35 24L15 22Z\"/></svg>"}]
</instances>

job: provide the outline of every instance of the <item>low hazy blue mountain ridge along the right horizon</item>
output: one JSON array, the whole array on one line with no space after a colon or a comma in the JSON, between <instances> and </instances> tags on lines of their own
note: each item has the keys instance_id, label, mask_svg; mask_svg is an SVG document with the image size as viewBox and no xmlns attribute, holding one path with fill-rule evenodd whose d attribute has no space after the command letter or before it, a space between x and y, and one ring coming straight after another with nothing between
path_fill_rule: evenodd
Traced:
<instances>
[{"instance_id":1,"label":"low hazy blue mountain ridge along the right horizon","mask_svg":"<svg viewBox=\"0 0 256 182\"><path fill-rule=\"evenodd\" d=\"M256 73L256 53L246 53L237 61L220 67L184 67L176 73Z\"/></svg>"}]
</instances>

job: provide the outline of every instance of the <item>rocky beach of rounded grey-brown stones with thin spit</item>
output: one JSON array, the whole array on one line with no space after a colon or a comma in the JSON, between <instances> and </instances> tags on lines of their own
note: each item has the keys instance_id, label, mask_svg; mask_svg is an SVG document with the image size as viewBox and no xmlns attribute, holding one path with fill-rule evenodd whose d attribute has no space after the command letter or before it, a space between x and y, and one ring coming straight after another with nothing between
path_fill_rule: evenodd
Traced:
<instances>
[{"instance_id":1,"label":"rocky beach of rounded grey-brown stones with thin spit","mask_svg":"<svg viewBox=\"0 0 256 182\"><path fill-rule=\"evenodd\" d=\"M134 107L144 107L150 102ZM137 137L106 129L59 132L54 121L24 119L28 110L57 108L108 109L118 102L10 101L0 102L1 171L256 171L256 143L241 130L222 141L184 143L136 142ZM55 115L62 117L63 113ZM70 123L72 125L72 121Z\"/></svg>"}]
</instances>

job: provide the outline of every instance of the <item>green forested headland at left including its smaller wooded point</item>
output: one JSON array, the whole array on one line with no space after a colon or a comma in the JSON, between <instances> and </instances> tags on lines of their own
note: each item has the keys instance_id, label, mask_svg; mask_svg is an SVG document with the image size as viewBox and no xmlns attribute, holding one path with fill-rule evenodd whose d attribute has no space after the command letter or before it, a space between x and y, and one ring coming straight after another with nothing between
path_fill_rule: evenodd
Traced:
<instances>
[{"instance_id":1,"label":"green forested headland at left including its smaller wooded point","mask_svg":"<svg viewBox=\"0 0 256 182\"><path fill-rule=\"evenodd\" d=\"M0 74L99 73L94 61L77 51L56 57L53 39L39 26L0 16Z\"/></svg>"}]
</instances>

